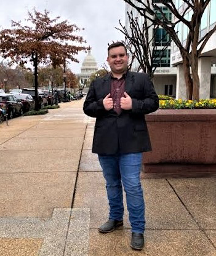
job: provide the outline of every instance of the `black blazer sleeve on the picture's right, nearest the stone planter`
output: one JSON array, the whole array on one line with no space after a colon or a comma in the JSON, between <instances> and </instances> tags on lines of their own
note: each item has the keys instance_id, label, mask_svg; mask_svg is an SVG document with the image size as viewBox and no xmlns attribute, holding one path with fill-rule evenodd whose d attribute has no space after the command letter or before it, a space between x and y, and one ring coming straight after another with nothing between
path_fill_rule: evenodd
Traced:
<instances>
[{"instance_id":1,"label":"black blazer sleeve on the picture's right, nearest the stone planter","mask_svg":"<svg viewBox=\"0 0 216 256\"><path fill-rule=\"evenodd\" d=\"M149 114L159 108L159 99L149 76L143 81L143 99L132 98L132 113Z\"/></svg>"}]
</instances>

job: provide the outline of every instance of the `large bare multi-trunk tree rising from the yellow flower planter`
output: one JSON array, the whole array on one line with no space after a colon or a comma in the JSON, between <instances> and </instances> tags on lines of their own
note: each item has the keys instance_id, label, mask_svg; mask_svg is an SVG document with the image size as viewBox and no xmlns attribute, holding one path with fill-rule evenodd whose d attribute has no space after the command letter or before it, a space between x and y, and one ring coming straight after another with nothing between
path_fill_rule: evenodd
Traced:
<instances>
[{"instance_id":1,"label":"large bare multi-trunk tree rising from the yellow flower planter","mask_svg":"<svg viewBox=\"0 0 216 256\"><path fill-rule=\"evenodd\" d=\"M182 55L186 83L186 98L188 98L188 100L199 100L200 82L198 76L198 58L206 46L207 41L216 31L215 25L204 36L200 36L201 18L210 0L182 0L183 5L180 9L175 7L175 1L172 0L124 1L137 9L140 15L144 18L147 18L152 23L161 26L170 34ZM166 6L170 12L172 12L175 19L170 21L159 8L158 3ZM188 14L189 11L191 12L190 17L186 17L186 14ZM185 44L183 44L181 39L178 38L178 31L176 31L177 25L180 22L188 28L188 35ZM190 74L190 66L193 79Z\"/></svg>"}]
</instances>

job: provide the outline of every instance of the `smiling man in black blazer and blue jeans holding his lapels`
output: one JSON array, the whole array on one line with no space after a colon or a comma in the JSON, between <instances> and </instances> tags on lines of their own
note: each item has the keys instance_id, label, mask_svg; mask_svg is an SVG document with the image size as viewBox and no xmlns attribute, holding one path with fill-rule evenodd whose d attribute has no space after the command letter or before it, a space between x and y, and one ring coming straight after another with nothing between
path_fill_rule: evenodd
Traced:
<instances>
[{"instance_id":1,"label":"smiling man in black blazer and blue jeans holding his lapels","mask_svg":"<svg viewBox=\"0 0 216 256\"><path fill-rule=\"evenodd\" d=\"M127 70L122 42L108 47L111 73L95 79L84 102L84 113L96 119L92 152L98 154L110 205L108 221L100 226L109 233L123 225L122 185L132 226L132 249L142 250L145 203L140 183L142 152L150 151L144 114L158 109L158 96L148 75Z\"/></svg>"}]
</instances>

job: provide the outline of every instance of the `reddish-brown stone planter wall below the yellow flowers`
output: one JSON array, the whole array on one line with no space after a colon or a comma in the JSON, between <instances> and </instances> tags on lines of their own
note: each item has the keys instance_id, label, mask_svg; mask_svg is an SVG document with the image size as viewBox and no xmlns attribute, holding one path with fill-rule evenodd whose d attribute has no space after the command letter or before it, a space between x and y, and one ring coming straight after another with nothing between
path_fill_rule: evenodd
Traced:
<instances>
[{"instance_id":1,"label":"reddish-brown stone planter wall below the yellow flowers","mask_svg":"<svg viewBox=\"0 0 216 256\"><path fill-rule=\"evenodd\" d=\"M144 177L216 175L216 110L158 110L145 116L153 150Z\"/></svg>"}]
</instances>

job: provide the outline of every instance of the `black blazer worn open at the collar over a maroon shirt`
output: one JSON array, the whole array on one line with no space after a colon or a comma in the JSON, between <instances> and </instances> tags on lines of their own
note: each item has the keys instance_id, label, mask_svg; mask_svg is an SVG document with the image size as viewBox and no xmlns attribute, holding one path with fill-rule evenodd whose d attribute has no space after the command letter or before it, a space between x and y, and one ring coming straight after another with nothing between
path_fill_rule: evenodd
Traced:
<instances>
[{"instance_id":1,"label":"black blazer worn open at the collar over a maroon shirt","mask_svg":"<svg viewBox=\"0 0 216 256\"><path fill-rule=\"evenodd\" d=\"M83 110L96 119L92 152L127 154L151 150L145 116L158 109L158 95L147 74L127 71L127 94L132 98L132 110L106 111L103 98L110 93L111 75L95 79L90 84Z\"/></svg>"}]
</instances>

